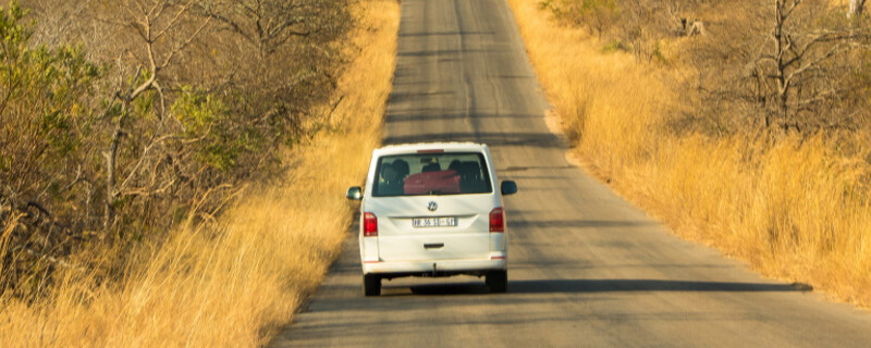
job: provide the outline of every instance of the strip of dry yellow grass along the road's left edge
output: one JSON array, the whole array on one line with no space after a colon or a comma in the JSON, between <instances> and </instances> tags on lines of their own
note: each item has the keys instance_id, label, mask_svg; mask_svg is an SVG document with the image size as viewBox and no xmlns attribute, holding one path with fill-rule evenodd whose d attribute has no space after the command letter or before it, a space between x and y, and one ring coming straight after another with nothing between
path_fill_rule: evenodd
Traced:
<instances>
[{"instance_id":1,"label":"strip of dry yellow grass along the road's left edge","mask_svg":"<svg viewBox=\"0 0 871 348\"><path fill-rule=\"evenodd\" d=\"M212 226L173 232L122 284L68 282L30 306L0 299L0 347L250 347L290 323L341 249L352 220L344 189L380 141L398 4L359 7L338 130L290 153L298 163L286 179L249 189Z\"/></svg>"}]
</instances>

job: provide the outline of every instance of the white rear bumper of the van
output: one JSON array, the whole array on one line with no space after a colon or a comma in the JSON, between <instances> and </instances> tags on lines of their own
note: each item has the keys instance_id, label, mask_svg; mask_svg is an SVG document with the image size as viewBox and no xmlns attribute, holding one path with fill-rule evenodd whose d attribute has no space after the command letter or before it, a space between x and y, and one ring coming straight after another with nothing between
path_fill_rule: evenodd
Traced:
<instances>
[{"instance_id":1,"label":"white rear bumper of the van","mask_svg":"<svg viewBox=\"0 0 871 348\"><path fill-rule=\"evenodd\" d=\"M398 276L450 276L456 274L483 275L488 271L505 271L508 263L503 259L461 259L427 261L383 261L364 262L364 274L383 274L384 277Z\"/></svg>"}]
</instances>

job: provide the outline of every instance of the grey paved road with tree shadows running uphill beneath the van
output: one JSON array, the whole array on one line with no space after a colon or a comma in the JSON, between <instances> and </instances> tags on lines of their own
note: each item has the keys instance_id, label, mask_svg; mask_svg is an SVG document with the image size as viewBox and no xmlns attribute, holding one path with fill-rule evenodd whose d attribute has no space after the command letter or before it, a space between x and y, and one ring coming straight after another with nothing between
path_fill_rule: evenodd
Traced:
<instances>
[{"instance_id":1,"label":"grey paved road with tree shadows running uphill beneath the van","mask_svg":"<svg viewBox=\"0 0 871 348\"><path fill-rule=\"evenodd\" d=\"M385 141L487 142L520 187L505 199L508 293L406 278L364 298L349 234L273 346L871 346L871 314L683 241L572 167L503 0L403 0L398 50Z\"/></svg>"}]
</instances>

